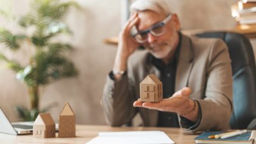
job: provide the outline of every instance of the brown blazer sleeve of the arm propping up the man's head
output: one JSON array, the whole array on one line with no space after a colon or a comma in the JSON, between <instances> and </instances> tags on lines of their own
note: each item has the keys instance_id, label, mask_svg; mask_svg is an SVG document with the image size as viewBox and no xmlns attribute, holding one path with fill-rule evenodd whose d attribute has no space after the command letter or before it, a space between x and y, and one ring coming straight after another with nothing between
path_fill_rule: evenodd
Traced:
<instances>
[{"instance_id":1,"label":"brown blazer sleeve of the arm propping up the man's head","mask_svg":"<svg viewBox=\"0 0 256 144\"><path fill-rule=\"evenodd\" d=\"M116 81L107 77L102 97L102 107L106 122L111 126L121 126L131 122L136 114L133 106L133 97L129 78L125 74Z\"/></svg>"}]
</instances>

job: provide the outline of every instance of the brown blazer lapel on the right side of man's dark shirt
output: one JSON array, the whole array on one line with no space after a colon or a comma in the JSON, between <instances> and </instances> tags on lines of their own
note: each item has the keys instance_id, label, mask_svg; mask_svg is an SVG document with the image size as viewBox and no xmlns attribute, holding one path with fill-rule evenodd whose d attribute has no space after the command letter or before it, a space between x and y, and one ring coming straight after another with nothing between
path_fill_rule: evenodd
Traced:
<instances>
[{"instance_id":1,"label":"brown blazer lapel on the right side of man's dark shirt","mask_svg":"<svg viewBox=\"0 0 256 144\"><path fill-rule=\"evenodd\" d=\"M175 77L175 92L188 86L188 79L193 67L193 50L188 36L182 35L182 44L179 52Z\"/></svg>"}]
</instances>

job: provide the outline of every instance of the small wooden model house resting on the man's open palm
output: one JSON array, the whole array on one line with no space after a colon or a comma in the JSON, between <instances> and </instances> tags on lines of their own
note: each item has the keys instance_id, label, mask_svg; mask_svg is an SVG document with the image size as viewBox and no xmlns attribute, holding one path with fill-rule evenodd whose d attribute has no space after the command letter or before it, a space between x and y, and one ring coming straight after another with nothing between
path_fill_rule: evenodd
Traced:
<instances>
[{"instance_id":1,"label":"small wooden model house resting on the man's open palm","mask_svg":"<svg viewBox=\"0 0 256 144\"><path fill-rule=\"evenodd\" d=\"M141 102L159 102L163 99L163 84L154 75L150 74L140 83Z\"/></svg>"}]
</instances>

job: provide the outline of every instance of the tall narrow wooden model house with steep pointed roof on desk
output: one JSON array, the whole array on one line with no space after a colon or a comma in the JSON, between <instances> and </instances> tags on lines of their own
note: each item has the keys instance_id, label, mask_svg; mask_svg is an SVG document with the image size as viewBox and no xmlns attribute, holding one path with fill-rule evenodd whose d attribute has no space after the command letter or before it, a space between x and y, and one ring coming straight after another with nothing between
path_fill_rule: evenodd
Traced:
<instances>
[{"instance_id":1,"label":"tall narrow wooden model house with steep pointed roof on desk","mask_svg":"<svg viewBox=\"0 0 256 144\"><path fill-rule=\"evenodd\" d=\"M59 138L76 137L76 116L68 102L59 116Z\"/></svg>"}]
</instances>

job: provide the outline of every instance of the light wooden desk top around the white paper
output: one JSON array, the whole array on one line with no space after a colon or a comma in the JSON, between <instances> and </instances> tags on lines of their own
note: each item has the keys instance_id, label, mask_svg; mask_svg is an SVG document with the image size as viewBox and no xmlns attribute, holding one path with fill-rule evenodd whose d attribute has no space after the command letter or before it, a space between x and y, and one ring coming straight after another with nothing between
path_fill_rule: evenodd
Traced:
<instances>
[{"instance_id":1,"label":"light wooden desk top around the white paper","mask_svg":"<svg viewBox=\"0 0 256 144\"><path fill-rule=\"evenodd\" d=\"M95 136L98 132L107 132L107 131L164 131L173 141L177 144L190 144L195 143L193 140L197 135L196 134L183 134L184 129L179 128L165 128L165 127L109 127L106 125L77 125L76 126L76 138L33 138L32 135L23 135L23 136L13 136L10 134L1 134L0 133L0 143L17 143L17 144L28 144L28 143L79 143L84 144Z\"/></svg>"}]
</instances>

